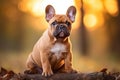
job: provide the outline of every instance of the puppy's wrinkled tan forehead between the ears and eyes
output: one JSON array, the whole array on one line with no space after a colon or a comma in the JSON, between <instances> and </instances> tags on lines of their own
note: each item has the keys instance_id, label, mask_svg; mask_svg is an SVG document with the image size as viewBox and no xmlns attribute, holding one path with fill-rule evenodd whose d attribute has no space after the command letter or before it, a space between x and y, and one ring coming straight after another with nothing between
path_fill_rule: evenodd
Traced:
<instances>
[{"instance_id":1,"label":"puppy's wrinkled tan forehead between the ears and eyes","mask_svg":"<svg viewBox=\"0 0 120 80\"><path fill-rule=\"evenodd\" d=\"M66 21L69 21L71 23L71 21L69 20L69 18L66 16L66 15L55 15L49 23L52 23L54 21L57 21L57 22L66 22Z\"/></svg>"}]
</instances>

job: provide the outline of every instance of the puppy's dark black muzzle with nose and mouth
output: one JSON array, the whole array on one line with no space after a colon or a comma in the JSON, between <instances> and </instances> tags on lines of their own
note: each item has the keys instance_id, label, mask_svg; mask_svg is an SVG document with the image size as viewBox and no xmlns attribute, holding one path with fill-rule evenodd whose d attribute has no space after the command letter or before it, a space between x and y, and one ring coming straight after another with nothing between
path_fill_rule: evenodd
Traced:
<instances>
[{"instance_id":1,"label":"puppy's dark black muzzle with nose and mouth","mask_svg":"<svg viewBox=\"0 0 120 80\"><path fill-rule=\"evenodd\" d=\"M64 25L58 25L56 27L56 30L54 31L53 35L56 38L66 38L70 35L70 32L67 29L67 27L65 27Z\"/></svg>"}]
</instances>

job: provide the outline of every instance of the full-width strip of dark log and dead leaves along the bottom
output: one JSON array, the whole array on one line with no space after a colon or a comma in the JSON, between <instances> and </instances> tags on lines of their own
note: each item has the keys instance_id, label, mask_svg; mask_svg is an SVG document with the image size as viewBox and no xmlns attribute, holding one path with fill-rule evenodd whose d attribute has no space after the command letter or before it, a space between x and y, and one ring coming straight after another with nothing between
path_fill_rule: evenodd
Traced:
<instances>
[{"instance_id":1,"label":"full-width strip of dark log and dead leaves along the bottom","mask_svg":"<svg viewBox=\"0 0 120 80\"><path fill-rule=\"evenodd\" d=\"M120 72L107 73L107 69L92 73L55 73L50 77L41 74L27 74L7 71L1 68L0 80L120 80Z\"/></svg>"}]
</instances>

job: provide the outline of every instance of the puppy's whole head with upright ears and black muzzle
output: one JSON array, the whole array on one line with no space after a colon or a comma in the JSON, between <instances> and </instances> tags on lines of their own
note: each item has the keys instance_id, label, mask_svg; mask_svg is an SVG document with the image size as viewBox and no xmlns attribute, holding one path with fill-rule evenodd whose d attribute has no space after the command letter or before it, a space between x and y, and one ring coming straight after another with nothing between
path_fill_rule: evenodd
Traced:
<instances>
[{"instance_id":1,"label":"puppy's whole head with upright ears and black muzzle","mask_svg":"<svg viewBox=\"0 0 120 80\"><path fill-rule=\"evenodd\" d=\"M46 21L50 24L49 32L56 39L66 38L70 35L71 25L75 21L76 8L70 6L66 12L66 15L55 14L53 6L48 5L45 10Z\"/></svg>"}]
</instances>

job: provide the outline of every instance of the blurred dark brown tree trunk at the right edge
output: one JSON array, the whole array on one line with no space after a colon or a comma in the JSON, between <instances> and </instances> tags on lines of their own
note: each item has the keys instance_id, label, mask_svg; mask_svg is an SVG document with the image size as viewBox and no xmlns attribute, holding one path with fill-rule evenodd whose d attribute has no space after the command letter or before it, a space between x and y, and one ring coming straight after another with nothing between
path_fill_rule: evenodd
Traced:
<instances>
[{"instance_id":1,"label":"blurred dark brown tree trunk at the right edge","mask_svg":"<svg viewBox=\"0 0 120 80\"><path fill-rule=\"evenodd\" d=\"M120 10L120 0L118 2L118 10ZM107 32L109 36L109 49L113 55L120 56L120 11L117 16L106 14Z\"/></svg>"}]
</instances>

